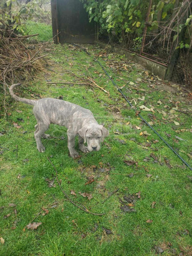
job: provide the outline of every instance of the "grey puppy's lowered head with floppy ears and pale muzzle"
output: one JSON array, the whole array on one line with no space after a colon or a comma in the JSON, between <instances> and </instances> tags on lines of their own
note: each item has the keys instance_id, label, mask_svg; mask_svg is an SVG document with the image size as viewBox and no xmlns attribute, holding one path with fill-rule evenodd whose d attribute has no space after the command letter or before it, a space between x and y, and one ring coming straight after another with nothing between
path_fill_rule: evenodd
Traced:
<instances>
[{"instance_id":1,"label":"grey puppy's lowered head with floppy ears and pale muzzle","mask_svg":"<svg viewBox=\"0 0 192 256\"><path fill-rule=\"evenodd\" d=\"M109 135L109 131L104 126L93 123L83 126L79 130L79 135L84 139L84 143L87 141L88 151L99 151L101 141Z\"/></svg>"}]
</instances>

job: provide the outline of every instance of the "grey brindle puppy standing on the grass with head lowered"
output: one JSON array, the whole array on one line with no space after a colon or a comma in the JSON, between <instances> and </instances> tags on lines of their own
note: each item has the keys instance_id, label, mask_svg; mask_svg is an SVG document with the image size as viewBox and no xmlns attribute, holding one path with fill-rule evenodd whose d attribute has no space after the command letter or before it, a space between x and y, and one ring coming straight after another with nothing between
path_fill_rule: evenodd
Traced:
<instances>
[{"instance_id":1,"label":"grey brindle puppy standing on the grass with head lowered","mask_svg":"<svg viewBox=\"0 0 192 256\"><path fill-rule=\"evenodd\" d=\"M79 105L63 101L62 99L43 98L38 100L20 98L13 93L13 88L20 84L13 84L9 88L10 95L16 101L33 105L33 112L37 119L35 125L34 137L37 143L37 149L40 152L45 151L41 143L41 137L47 138L50 123L65 126L67 128L68 148L70 157L79 157L74 149L74 138L79 135L79 148L83 152L99 151L101 141L109 135L109 131L102 125L98 125L93 113ZM84 145L87 141L87 147Z\"/></svg>"}]
</instances>

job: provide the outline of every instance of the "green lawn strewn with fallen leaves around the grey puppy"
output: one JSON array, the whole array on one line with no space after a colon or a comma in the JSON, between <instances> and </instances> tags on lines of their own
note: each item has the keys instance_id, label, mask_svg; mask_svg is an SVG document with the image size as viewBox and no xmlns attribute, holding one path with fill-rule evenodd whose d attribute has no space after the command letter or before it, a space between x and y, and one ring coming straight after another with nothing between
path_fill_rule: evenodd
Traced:
<instances>
[{"instance_id":1,"label":"green lawn strewn with fallen leaves around the grey puppy","mask_svg":"<svg viewBox=\"0 0 192 256\"><path fill-rule=\"evenodd\" d=\"M52 137L42 139L42 154L34 140L31 106L12 99L8 120L2 119L0 126L0 255L152 256L157 255L155 246L166 256L190 255L190 169L135 112L141 105L152 108L141 115L191 164L189 98L180 87L166 86L123 56L86 47L91 57L69 45L50 45L49 66L24 83L19 94L62 95L90 109L110 135L100 151L74 160L68 154L65 127L51 125L47 133ZM96 55L133 109L94 62ZM90 75L110 97L98 88L73 84ZM57 83L47 84L50 81ZM67 201L47 158L71 200L105 215L88 214ZM90 177L94 182L86 184ZM33 222L41 225L27 229Z\"/></svg>"}]
</instances>

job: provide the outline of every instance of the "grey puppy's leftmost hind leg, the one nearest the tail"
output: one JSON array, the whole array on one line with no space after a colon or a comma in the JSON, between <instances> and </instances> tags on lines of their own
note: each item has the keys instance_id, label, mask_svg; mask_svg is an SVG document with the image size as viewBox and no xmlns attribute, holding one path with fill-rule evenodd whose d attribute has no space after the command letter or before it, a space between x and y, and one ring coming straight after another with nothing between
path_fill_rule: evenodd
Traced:
<instances>
[{"instance_id":1,"label":"grey puppy's leftmost hind leg, the one nearest the tail","mask_svg":"<svg viewBox=\"0 0 192 256\"><path fill-rule=\"evenodd\" d=\"M44 132L48 130L49 128L49 123L42 123L39 122L35 126L36 130L34 133L35 141L37 143L37 149L40 152L45 152L45 147L41 143L41 137L44 135Z\"/></svg>"}]
</instances>

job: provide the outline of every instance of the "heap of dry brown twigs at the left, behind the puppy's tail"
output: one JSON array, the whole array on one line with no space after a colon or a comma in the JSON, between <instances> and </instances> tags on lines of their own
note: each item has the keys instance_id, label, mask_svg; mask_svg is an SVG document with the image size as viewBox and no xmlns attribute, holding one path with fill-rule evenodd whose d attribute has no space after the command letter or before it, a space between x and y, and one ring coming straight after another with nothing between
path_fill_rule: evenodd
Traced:
<instances>
[{"instance_id":1,"label":"heap of dry brown twigs at the left, behind the puppy's tail","mask_svg":"<svg viewBox=\"0 0 192 256\"><path fill-rule=\"evenodd\" d=\"M45 55L40 56L42 45L29 44L27 40L33 36L35 35L17 35L12 26L0 27L0 108L5 109L5 114L9 86L26 79L33 80L34 72L43 68L41 58Z\"/></svg>"}]
</instances>

